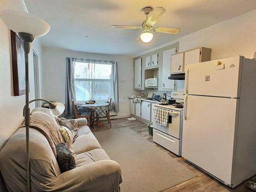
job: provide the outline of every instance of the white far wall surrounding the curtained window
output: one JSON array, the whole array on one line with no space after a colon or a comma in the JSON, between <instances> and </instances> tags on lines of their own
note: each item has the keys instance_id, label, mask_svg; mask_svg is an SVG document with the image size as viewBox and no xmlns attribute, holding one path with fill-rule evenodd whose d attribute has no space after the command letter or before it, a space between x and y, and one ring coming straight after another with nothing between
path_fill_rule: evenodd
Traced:
<instances>
[{"instance_id":1,"label":"white far wall surrounding the curtained window","mask_svg":"<svg viewBox=\"0 0 256 192\"><path fill-rule=\"evenodd\" d=\"M130 103L127 97L136 94L136 91L133 90L133 59L130 56L45 47L42 49L42 98L65 103L66 57L117 61L119 78L118 117L130 116Z\"/></svg>"}]
</instances>

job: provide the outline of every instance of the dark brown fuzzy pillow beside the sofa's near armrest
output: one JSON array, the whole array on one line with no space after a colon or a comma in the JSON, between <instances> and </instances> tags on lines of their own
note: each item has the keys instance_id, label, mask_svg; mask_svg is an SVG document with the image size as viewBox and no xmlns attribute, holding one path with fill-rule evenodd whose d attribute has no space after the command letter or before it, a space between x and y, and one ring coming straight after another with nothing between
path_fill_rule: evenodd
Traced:
<instances>
[{"instance_id":1,"label":"dark brown fuzzy pillow beside the sofa's near armrest","mask_svg":"<svg viewBox=\"0 0 256 192\"><path fill-rule=\"evenodd\" d=\"M57 162L62 173L76 168L76 161L71 151L65 143L59 143L56 145Z\"/></svg>"}]
</instances>

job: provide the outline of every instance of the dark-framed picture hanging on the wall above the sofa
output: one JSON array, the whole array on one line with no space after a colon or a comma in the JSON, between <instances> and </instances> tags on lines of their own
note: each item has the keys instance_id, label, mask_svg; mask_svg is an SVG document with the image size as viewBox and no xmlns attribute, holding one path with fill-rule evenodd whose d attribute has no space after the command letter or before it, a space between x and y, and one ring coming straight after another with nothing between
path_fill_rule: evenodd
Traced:
<instances>
[{"instance_id":1,"label":"dark-framed picture hanging on the wall above the sofa","mask_svg":"<svg viewBox=\"0 0 256 192\"><path fill-rule=\"evenodd\" d=\"M14 96L24 95L26 90L25 52L23 41L11 30L12 78Z\"/></svg>"}]
</instances>

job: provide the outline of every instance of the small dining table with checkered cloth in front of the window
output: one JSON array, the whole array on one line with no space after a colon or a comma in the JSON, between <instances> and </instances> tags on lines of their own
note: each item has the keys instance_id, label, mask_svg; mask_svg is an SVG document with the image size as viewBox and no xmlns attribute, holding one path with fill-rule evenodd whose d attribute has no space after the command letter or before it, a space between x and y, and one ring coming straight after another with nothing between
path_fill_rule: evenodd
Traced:
<instances>
[{"instance_id":1,"label":"small dining table with checkered cloth in front of the window","mask_svg":"<svg viewBox=\"0 0 256 192\"><path fill-rule=\"evenodd\" d=\"M94 128L94 118L95 118L94 111L97 114L97 119L99 119L99 117L106 116L106 111L108 111L108 108L109 108L109 103L107 103L107 102L96 102L94 104L84 103L84 104L78 104L78 105L91 109L91 115L90 115L91 123L90 123L90 126L92 128Z\"/></svg>"}]
</instances>

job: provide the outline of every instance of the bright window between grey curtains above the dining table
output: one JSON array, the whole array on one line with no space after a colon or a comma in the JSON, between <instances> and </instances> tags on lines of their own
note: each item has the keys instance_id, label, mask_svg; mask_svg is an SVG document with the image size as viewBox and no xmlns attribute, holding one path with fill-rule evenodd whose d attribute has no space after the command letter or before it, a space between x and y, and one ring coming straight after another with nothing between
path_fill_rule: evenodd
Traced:
<instances>
[{"instance_id":1,"label":"bright window between grey curtains above the dining table","mask_svg":"<svg viewBox=\"0 0 256 192\"><path fill-rule=\"evenodd\" d=\"M106 101L113 97L112 64L75 62L76 100Z\"/></svg>"}]
</instances>

